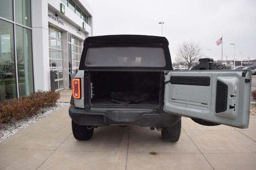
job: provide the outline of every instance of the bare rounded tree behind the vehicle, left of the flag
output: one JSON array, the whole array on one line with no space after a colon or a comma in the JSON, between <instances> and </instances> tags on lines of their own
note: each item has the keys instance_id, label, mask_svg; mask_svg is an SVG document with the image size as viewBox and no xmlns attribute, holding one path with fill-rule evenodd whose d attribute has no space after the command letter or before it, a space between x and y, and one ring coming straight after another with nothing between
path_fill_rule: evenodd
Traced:
<instances>
[{"instance_id":1,"label":"bare rounded tree behind the vehicle, left of the flag","mask_svg":"<svg viewBox=\"0 0 256 170\"><path fill-rule=\"evenodd\" d=\"M193 63L198 62L203 55L203 49L200 45L190 40L189 42L184 41L177 49L176 55L180 57L188 66L188 69Z\"/></svg>"}]
</instances>

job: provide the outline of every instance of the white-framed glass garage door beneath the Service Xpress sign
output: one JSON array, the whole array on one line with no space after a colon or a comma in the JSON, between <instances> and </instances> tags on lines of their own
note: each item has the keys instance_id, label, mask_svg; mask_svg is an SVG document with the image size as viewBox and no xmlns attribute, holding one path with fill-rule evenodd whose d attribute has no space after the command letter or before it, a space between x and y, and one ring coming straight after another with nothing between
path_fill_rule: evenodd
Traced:
<instances>
[{"instance_id":1,"label":"white-framed glass garage door beneath the Service Xpress sign","mask_svg":"<svg viewBox=\"0 0 256 170\"><path fill-rule=\"evenodd\" d=\"M62 31L49 26L50 70L55 72L55 90L64 89Z\"/></svg>"}]
</instances>

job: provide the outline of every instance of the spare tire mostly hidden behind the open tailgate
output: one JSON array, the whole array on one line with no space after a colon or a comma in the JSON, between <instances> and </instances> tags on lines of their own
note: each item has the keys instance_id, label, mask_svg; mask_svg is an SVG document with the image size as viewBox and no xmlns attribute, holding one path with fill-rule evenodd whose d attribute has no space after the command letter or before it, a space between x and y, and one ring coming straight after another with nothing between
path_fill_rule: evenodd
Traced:
<instances>
[{"instance_id":1,"label":"spare tire mostly hidden behind the open tailgate","mask_svg":"<svg viewBox=\"0 0 256 170\"><path fill-rule=\"evenodd\" d=\"M209 63L209 70L228 70L226 66L218 63ZM191 70L199 70L199 64L191 68ZM192 119L194 122L200 124L200 125L205 125L205 126L216 126L220 125L218 123L213 123L210 121L204 121L202 119Z\"/></svg>"}]
</instances>

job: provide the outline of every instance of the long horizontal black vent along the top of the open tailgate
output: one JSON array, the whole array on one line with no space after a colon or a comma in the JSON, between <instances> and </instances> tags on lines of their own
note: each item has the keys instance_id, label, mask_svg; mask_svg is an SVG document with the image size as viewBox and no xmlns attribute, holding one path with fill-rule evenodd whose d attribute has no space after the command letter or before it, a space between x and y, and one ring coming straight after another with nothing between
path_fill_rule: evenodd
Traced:
<instances>
[{"instance_id":1,"label":"long horizontal black vent along the top of the open tailgate","mask_svg":"<svg viewBox=\"0 0 256 170\"><path fill-rule=\"evenodd\" d=\"M171 84L210 86L209 76L171 76Z\"/></svg>"}]
</instances>

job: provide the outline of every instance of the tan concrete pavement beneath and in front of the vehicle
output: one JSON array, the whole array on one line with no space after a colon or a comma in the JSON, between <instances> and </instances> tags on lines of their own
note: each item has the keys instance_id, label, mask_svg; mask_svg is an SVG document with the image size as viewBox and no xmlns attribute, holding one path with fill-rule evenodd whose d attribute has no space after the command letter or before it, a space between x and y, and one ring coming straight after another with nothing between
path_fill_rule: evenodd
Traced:
<instances>
[{"instance_id":1,"label":"tan concrete pavement beneath and in front of the vehicle","mask_svg":"<svg viewBox=\"0 0 256 170\"><path fill-rule=\"evenodd\" d=\"M99 127L72 135L68 106L0 143L0 169L255 169L256 116L249 129L206 127L182 118L177 143L146 127ZM150 152L155 152L150 154Z\"/></svg>"}]
</instances>

